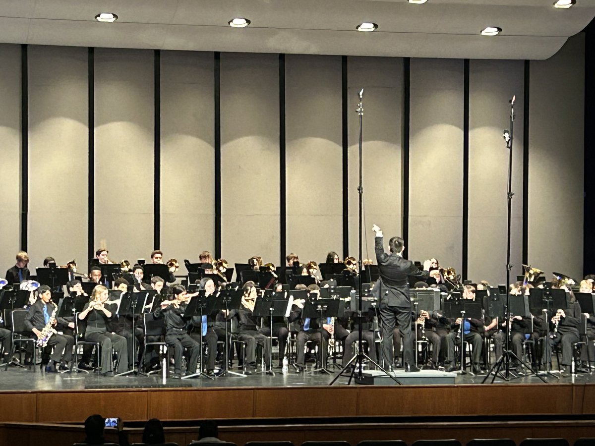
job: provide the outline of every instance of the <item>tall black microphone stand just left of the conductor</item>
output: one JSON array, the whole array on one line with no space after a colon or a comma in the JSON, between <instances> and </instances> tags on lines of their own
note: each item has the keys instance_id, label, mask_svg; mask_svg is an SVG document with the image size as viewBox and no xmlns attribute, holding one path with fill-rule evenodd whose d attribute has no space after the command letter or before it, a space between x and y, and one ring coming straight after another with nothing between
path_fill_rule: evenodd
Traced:
<instances>
[{"instance_id":1,"label":"tall black microphone stand just left of the conductor","mask_svg":"<svg viewBox=\"0 0 595 446\"><path fill-rule=\"evenodd\" d=\"M363 316L363 310L362 310L362 294L363 293L363 287L362 287L362 278L361 278L361 271L362 271L362 209L364 207L364 187L362 186L363 181L363 174L362 174L362 127L363 127L363 117L364 117L364 103L362 102L362 98L364 96L364 89L362 88L359 93L359 103L358 103L358 108L356 109L356 112L358 112L359 115L359 186L358 186L358 194L359 194L359 221L358 221L358 232L359 232L359 238L358 238L358 243L359 243L359 260L358 260L358 268L359 268L359 273L360 273L360 277L359 277L359 284L358 284L358 291L359 291L359 300L358 300L358 354L356 354L355 356L352 357L352 359L350 359L350 361L347 363L347 365L345 367L343 367L341 370L339 370L339 373L337 373L337 376L335 376L333 378L333 381L331 381L328 385L333 385L334 382L337 381L337 379L339 379L339 376L341 376L343 374L343 372L345 372L345 370L347 370L348 368L352 368L351 370L351 374L349 376L349 382L347 384L351 384L351 380L353 379L353 375L355 374L356 370L358 373L358 379L360 380L359 382L361 382L362 379L362 366L364 364L364 359L367 359L369 361L370 365L375 365L378 369L382 370L384 372L385 375L389 376L390 378L393 379L394 382L396 382L397 384L402 384L399 382L399 380L397 380L394 375L392 375L391 373L387 372L385 369L383 369L380 364L378 364L377 362L375 362L374 360L371 359L371 357L369 357L367 354L364 353L364 346L362 345L362 322L364 320L364 316ZM368 346L369 348L376 348L376 346L372 345L372 346ZM416 348L417 350L417 348ZM358 382L356 380L356 382Z\"/></svg>"}]
</instances>

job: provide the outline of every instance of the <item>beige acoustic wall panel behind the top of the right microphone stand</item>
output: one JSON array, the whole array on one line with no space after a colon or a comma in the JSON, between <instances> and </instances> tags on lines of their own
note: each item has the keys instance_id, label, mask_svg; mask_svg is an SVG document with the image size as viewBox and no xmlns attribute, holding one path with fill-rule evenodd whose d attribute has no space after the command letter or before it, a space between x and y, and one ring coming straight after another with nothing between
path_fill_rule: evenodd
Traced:
<instances>
[{"instance_id":1,"label":"beige acoustic wall panel behind the top of the right microphone stand","mask_svg":"<svg viewBox=\"0 0 595 446\"><path fill-rule=\"evenodd\" d=\"M470 62L468 278L474 282L506 283L509 150L502 134L510 128L513 95L512 281L522 271L524 62Z\"/></svg>"}]
</instances>

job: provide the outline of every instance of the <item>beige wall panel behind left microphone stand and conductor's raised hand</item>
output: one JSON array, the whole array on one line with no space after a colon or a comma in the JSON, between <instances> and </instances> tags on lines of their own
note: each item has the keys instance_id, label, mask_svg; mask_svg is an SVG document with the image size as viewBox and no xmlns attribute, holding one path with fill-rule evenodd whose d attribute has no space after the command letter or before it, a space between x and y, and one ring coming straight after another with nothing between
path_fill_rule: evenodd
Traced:
<instances>
[{"instance_id":1,"label":"beige wall panel behind left microphone stand and conductor's raised hand","mask_svg":"<svg viewBox=\"0 0 595 446\"><path fill-rule=\"evenodd\" d=\"M355 110L363 88L362 255L375 262L372 224L380 226L387 238L402 235L403 59L349 57L347 83L349 255L357 258L359 251L359 115Z\"/></svg>"}]
</instances>

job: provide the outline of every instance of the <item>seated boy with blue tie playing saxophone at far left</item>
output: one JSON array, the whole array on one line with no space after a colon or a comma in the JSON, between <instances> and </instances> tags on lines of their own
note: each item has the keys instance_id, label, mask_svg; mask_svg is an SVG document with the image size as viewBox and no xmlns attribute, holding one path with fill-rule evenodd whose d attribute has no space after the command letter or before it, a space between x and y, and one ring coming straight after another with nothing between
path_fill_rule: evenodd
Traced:
<instances>
[{"instance_id":1,"label":"seated boy with blue tie playing saxophone at far left","mask_svg":"<svg viewBox=\"0 0 595 446\"><path fill-rule=\"evenodd\" d=\"M48 285L41 285L36 290L37 300L29 307L24 325L37 336L37 345L53 346L50 371L68 370L72 360L74 337L61 335L55 331L58 306L52 302L52 292ZM58 366L58 367L57 367Z\"/></svg>"}]
</instances>

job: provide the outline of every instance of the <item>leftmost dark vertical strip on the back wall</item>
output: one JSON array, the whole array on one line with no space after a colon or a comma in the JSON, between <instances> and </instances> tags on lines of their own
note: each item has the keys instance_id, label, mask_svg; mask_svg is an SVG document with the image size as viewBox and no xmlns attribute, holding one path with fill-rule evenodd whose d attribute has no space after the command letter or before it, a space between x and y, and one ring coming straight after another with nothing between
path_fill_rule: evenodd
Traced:
<instances>
[{"instance_id":1,"label":"leftmost dark vertical strip on the back wall","mask_svg":"<svg viewBox=\"0 0 595 446\"><path fill-rule=\"evenodd\" d=\"M27 250L29 218L29 63L21 45L21 249Z\"/></svg>"}]
</instances>

